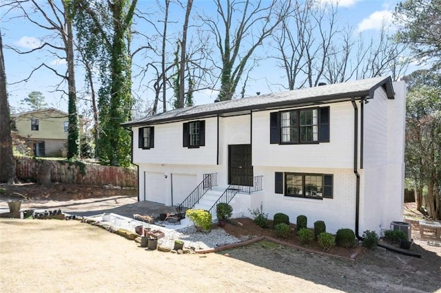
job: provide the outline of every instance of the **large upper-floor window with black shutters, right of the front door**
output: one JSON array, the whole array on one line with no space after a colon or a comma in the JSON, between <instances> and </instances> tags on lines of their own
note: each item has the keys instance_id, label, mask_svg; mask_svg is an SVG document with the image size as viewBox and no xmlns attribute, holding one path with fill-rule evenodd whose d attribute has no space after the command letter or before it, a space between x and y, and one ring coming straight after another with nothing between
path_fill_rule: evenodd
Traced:
<instances>
[{"instance_id":1,"label":"large upper-floor window with black shutters, right of the front door","mask_svg":"<svg viewBox=\"0 0 441 293\"><path fill-rule=\"evenodd\" d=\"M329 107L269 114L271 144L329 142Z\"/></svg>"}]
</instances>

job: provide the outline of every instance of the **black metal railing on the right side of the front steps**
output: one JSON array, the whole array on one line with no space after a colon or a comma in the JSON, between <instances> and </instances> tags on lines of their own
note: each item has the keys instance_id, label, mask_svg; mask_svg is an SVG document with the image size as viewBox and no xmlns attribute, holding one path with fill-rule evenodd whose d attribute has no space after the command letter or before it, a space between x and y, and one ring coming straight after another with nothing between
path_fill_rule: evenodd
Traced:
<instances>
[{"instance_id":1,"label":"black metal railing on the right side of the front steps","mask_svg":"<svg viewBox=\"0 0 441 293\"><path fill-rule=\"evenodd\" d=\"M261 191L262 189L262 181L263 175L254 176L254 177L236 177L233 180L232 184L229 184L227 189L220 195L218 200L213 204L211 208L209 208L209 213L212 215L212 218L216 216L216 205L220 202L224 202L225 204L229 204L232 201L234 196L236 196L239 192L245 193L254 193L256 191ZM250 184L250 185L243 185Z\"/></svg>"}]
</instances>

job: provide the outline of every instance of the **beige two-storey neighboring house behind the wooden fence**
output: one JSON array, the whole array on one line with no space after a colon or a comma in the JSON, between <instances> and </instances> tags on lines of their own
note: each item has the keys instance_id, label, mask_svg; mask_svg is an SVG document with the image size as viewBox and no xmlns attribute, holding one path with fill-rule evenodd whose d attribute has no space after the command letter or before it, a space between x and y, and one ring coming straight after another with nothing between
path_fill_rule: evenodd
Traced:
<instances>
[{"instance_id":1,"label":"beige two-storey neighboring house behind the wooden fence","mask_svg":"<svg viewBox=\"0 0 441 293\"><path fill-rule=\"evenodd\" d=\"M36 157L65 157L68 142L68 113L54 108L12 115L15 131Z\"/></svg>"}]
</instances>

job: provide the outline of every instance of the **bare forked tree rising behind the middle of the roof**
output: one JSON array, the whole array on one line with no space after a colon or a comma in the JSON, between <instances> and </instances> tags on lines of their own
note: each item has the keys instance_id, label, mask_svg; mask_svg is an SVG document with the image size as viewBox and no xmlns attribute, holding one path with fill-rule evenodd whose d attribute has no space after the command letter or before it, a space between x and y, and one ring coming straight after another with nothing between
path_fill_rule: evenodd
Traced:
<instances>
[{"instance_id":1,"label":"bare forked tree rising behind the middle of the roof","mask_svg":"<svg viewBox=\"0 0 441 293\"><path fill-rule=\"evenodd\" d=\"M220 100L231 100L249 58L291 10L291 1L214 0L218 19L203 17L220 54ZM237 23L235 21L237 20Z\"/></svg>"}]
</instances>

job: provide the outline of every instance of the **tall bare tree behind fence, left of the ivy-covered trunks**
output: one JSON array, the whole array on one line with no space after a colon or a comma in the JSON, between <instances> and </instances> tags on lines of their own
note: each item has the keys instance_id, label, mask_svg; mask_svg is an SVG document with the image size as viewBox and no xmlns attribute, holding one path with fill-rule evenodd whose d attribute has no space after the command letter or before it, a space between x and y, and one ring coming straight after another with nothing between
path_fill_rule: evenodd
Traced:
<instances>
[{"instance_id":1,"label":"tall bare tree behind fence, left of the ivy-covered trunks","mask_svg":"<svg viewBox=\"0 0 441 293\"><path fill-rule=\"evenodd\" d=\"M32 14L25 5L31 4ZM75 69L74 69L74 35L72 30L72 19L74 15L74 7L71 1L61 1L61 5L57 5L54 1L48 0L47 6L42 6L41 1L36 0L15 0L6 5L21 10L22 17L38 28L47 30L52 34L50 38L52 42L45 41L39 47L29 51L20 51L12 48L19 54L32 54L47 50L59 59L64 59L67 63L67 70L64 73L57 71L54 67L41 63L38 67L32 69L28 78L17 83L27 81L39 69L49 69L56 76L61 78L61 82L57 86L57 91L68 95L68 113L69 113L69 132L68 132L68 158L79 157L79 118L76 109L76 86L75 86ZM48 38L46 38L48 39ZM61 84L68 83L68 91L61 89Z\"/></svg>"}]
</instances>

